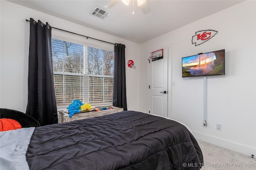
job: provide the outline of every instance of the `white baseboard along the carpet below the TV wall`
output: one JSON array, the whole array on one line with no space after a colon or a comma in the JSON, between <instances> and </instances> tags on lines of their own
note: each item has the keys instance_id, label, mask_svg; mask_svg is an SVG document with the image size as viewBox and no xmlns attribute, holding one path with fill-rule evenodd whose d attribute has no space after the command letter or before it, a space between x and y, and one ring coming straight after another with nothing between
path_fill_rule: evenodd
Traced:
<instances>
[{"instance_id":1,"label":"white baseboard along the carpet below the TV wall","mask_svg":"<svg viewBox=\"0 0 256 170\"><path fill-rule=\"evenodd\" d=\"M240 143L235 143L232 141L228 141L226 139L218 138L218 137L200 133L197 131L192 131L192 133L196 139L199 139L201 141L208 142L213 145L217 145L219 147L223 147L226 149L230 149L235 152L239 152L248 156L251 156L253 154L254 158L256 158L256 148L254 147L246 146Z\"/></svg>"}]
</instances>

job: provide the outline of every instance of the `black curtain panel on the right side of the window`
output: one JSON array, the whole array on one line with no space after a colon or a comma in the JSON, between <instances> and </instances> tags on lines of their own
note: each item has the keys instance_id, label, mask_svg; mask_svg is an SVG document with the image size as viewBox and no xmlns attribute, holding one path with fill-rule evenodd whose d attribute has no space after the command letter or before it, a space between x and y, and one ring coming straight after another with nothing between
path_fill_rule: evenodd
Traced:
<instances>
[{"instance_id":1,"label":"black curtain panel on the right side of the window","mask_svg":"<svg viewBox=\"0 0 256 170\"><path fill-rule=\"evenodd\" d=\"M115 44L113 106L127 110L124 49L125 45Z\"/></svg>"}]
</instances>

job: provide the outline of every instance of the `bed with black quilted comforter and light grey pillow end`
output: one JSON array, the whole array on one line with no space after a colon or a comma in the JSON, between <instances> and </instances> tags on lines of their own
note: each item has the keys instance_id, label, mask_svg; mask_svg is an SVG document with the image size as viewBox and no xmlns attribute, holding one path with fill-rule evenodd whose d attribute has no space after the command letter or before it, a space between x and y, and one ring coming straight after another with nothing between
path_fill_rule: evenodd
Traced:
<instances>
[{"instance_id":1,"label":"bed with black quilted comforter and light grey pillow end","mask_svg":"<svg viewBox=\"0 0 256 170\"><path fill-rule=\"evenodd\" d=\"M196 170L203 164L185 125L138 111L0 135L1 170Z\"/></svg>"}]
</instances>

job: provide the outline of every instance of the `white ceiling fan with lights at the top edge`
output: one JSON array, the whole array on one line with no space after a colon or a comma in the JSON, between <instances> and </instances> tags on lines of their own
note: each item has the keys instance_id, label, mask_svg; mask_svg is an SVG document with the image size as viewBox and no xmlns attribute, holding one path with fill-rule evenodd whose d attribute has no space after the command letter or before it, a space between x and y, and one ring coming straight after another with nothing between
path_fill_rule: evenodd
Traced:
<instances>
[{"instance_id":1,"label":"white ceiling fan with lights at the top edge","mask_svg":"<svg viewBox=\"0 0 256 170\"><path fill-rule=\"evenodd\" d=\"M120 1L121 0L110 0L110 2L108 2L104 7L112 8L114 5L116 5ZM122 2L128 6L130 0L122 0ZM141 8L143 14L148 14L151 11L146 0L137 0L137 2L138 2L138 6ZM133 3L134 3L134 0L133 0ZM132 14L134 14L134 12L132 12Z\"/></svg>"}]
</instances>

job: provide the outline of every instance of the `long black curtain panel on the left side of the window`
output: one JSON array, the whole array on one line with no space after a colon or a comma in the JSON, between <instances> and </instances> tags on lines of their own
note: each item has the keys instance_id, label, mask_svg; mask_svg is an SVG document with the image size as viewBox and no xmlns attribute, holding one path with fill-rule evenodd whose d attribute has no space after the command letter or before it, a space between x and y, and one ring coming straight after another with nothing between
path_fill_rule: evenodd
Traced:
<instances>
[{"instance_id":1,"label":"long black curtain panel on the left side of the window","mask_svg":"<svg viewBox=\"0 0 256 170\"><path fill-rule=\"evenodd\" d=\"M30 18L28 105L26 113L41 126L58 123L52 68L52 28Z\"/></svg>"}]
</instances>

